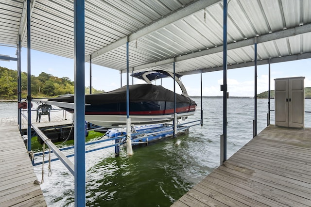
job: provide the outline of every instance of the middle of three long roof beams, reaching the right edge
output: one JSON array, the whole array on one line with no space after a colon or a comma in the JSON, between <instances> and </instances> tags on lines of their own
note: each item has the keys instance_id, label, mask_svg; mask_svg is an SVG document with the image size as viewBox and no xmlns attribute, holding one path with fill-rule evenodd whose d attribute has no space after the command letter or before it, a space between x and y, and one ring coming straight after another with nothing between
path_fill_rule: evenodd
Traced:
<instances>
[{"instance_id":1,"label":"middle of three long roof beams, reaching the right edge","mask_svg":"<svg viewBox=\"0 0 311 207\"><path fill-rule=\"evenodd\" d=\"M254 44L255 38L257 38L257 43L260 44L260 43L269 42L272 40L286 38L286 37L290 37L290 36L295 36L295 35L303 34L303 33L307 33L307 32L311 32L311 24L305 24L302 26L297 26L297 27L286 29L286 30L280 30L280 31L273 32L273 33L263 34L263 35L258 36L258 37L253 37L253 38L249 38L246 40L241 40L238 42L230 43L227 45L227 49L230 50L230 49L236 49L236 48L251 46ZM209 49L205 49L202 51L193 52L193 53L190 53L187 55L177 56L175 58L161 60L161 61L157 61L157 62L149 63L149 64L138 65L138 66L134 67L134 71L146 69L149 67L155 67L155 66L159 66L159 65L163 65L163 64L171 64L171 63L173 63L174 59L176 62L179 62L179 61L184 61L184 60L188 60L191 58L202 57L205 55L210 55L210 54L214 54L214 53L218 53L218 52L222 52L222 51L223 51L223 46L218 46L216 48L209 48ZM125 72L125 70L122 70L122 73L124 73L124 72Z\"/></svg>"}]
</instances>

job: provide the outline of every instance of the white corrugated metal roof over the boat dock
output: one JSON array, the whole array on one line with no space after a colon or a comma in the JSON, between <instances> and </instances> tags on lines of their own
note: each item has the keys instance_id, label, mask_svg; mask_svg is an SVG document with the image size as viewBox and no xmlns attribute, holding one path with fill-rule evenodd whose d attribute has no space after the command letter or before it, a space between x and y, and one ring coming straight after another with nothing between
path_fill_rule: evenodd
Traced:
<instances>
[{"instance_id":1,"label":"white corrugated metal roof over the boat dock","mask_svg":"<svg viewBox=\"0 0 311 207\"><path fill-rule=\"evenodd\" d=\"M0 43L17 45L25 33L26 1L0 0ZM191 74L221 70L222 0L86 0L86 61L135 71ZM228 64L258 64L311 57L311 0L230 0ZM33 49L73 58L73 0L33 0Z\"/></svg>"}]
</instances>

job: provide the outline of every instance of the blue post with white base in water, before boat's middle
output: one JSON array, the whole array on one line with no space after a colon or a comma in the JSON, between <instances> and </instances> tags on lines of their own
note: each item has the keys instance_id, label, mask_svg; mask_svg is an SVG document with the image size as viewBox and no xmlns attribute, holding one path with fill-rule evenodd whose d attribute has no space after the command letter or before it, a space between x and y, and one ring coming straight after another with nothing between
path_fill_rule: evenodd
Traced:
<instances>
[{"instance_id":1,"label":"blue post with white base in water, before boat's middle","mask_svg":"<svg viewBox=\"0 0 311 207\"><path fill-rule=\"evenodd\" d=\"M131 119L130 119L130 89L129 89L129 55L128 41L126 42L126 149L127 155L133 155L131 141Z\"/></svg>"}]
</instances>

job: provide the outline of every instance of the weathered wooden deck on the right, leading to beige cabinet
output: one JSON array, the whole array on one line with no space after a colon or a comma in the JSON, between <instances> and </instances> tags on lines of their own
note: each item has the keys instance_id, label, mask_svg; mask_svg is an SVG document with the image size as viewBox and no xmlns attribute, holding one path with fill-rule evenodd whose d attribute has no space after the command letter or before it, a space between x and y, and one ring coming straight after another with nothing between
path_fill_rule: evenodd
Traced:
<instances>
[{"instance_id":1,"label":"weathered wooden deck on the right, leading to beige cabinet","mask_svg":"<svg viewBox=\"0 0 311 207\"><path fill-rule=\"evenodd\" d=\"M311 207L311 129L266 127L172 207Z\"/></svg>"}]
</instances>

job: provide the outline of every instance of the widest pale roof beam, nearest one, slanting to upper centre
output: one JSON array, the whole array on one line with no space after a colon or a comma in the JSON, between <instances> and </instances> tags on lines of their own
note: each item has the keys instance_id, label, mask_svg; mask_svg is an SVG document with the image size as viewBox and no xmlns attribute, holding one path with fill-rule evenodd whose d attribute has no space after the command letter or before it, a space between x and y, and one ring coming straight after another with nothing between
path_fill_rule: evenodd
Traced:
<instances>
[{"instance_id":1,"label":"widest pale roof beam, nearest one, slanting to upper centre","mask_svg":"<svg viewBox=\"0 0 311 207\"><path fill-rule=\"evenodd\" d=\"M131 42L133 40L137 40L138 38L141 38L145 35L148 35L152 32L155 32L159 29L162 29L170 24L173 24L176 21L179 21L180 19L183 19L187 16L193 15L194 13L203 10L207 7L213 6L217 3L222 2L222 0L197 0L193 3L190 3L189 5L182 7L172 14L165 16L163 18L158 19L157 21L153 22L152 24L147 25L146 27L140 28L139 30L132 32L128 37L125 36L116 42L111 43L110 45L101 48L92 54L92 58L96 58L100 55L103 55L106 52L109 52L113 49L119 48L126 44L127 41ZM90 59L90 55L86 56L85 61L88 62Z\"/></svg>"}]
</instances>

